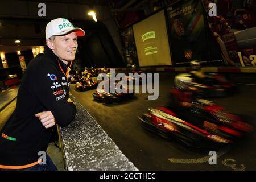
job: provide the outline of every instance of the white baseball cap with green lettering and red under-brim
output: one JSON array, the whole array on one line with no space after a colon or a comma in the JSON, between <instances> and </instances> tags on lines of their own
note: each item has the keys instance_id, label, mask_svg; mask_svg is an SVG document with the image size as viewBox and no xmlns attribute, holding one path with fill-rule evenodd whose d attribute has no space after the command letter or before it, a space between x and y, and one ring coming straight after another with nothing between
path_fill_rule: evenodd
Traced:
<instances>
[{"instance_id":1,"label":"white baseball cap with green lettering and red under-brim","mask_svg":"<svg viewBox=\"0 0 256 182\"><path fill-rule=\"evenodd\" d=\"M49 39L52 35L64 35L71 31L75 31L77 36L85 35L84 30L74 27L69 20L65 18L53 19L46 26L46 39Z\"/></svg>"}]
</instances>

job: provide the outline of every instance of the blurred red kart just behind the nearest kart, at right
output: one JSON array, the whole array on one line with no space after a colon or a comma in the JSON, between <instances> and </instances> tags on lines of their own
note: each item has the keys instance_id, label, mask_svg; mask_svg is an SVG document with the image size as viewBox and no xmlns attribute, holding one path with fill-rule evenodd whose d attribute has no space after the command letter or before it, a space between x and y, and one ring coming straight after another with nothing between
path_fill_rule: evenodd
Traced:
<instances>
[{"instance_id":1,"label":"blurred red kart just behind the nearest kart, at right","mask_svg":"<svg viewBox=\"0 0 256 182\"><path fill-rule=\"evenodd\" d=\"M191 85L198 89L201 97L225 97L236 91L236 84L217 73L210 73L204 79L198 78L191 73L181 74L192 78Z\"/></svg>"}]
</instances>

